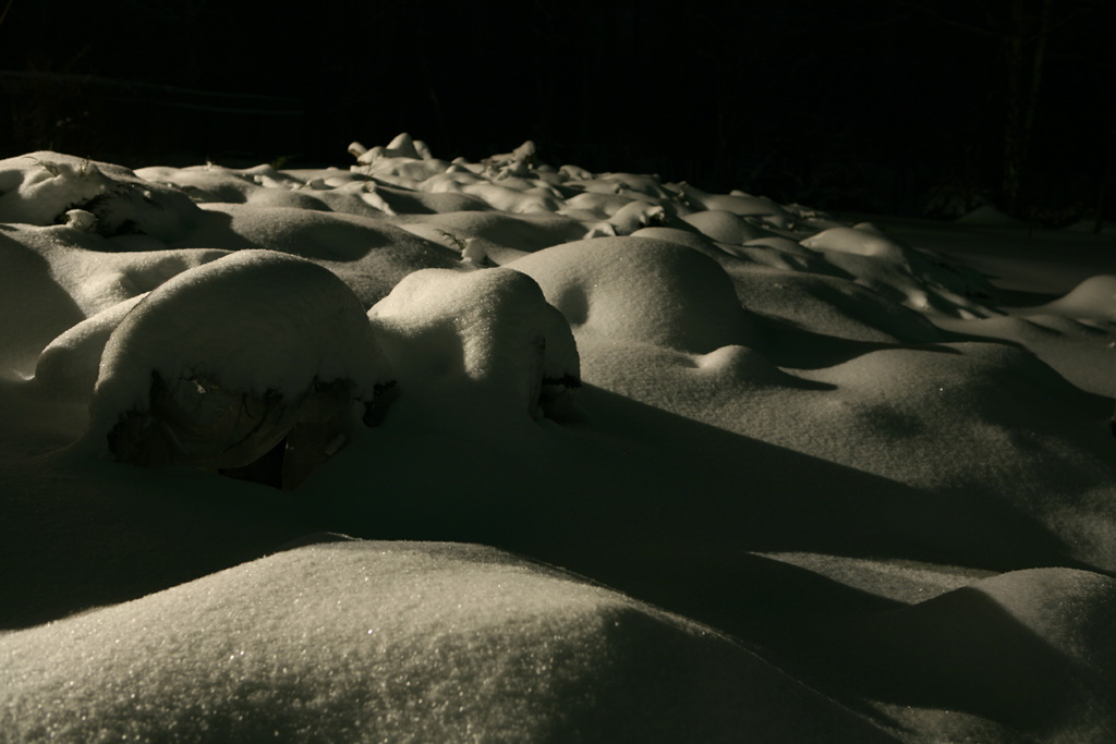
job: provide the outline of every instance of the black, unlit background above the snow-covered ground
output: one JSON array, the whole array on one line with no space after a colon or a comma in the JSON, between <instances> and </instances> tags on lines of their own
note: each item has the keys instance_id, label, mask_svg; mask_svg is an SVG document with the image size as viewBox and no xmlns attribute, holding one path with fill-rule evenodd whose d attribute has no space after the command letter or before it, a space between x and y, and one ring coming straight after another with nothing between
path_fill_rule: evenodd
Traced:
<instances>
[{"instance_id":1,"label":"black, unlit background above the snow-covered ground","mask_svg":"<svg viewBox=\"0 0 1116 744\"><path fill-rule=\"evenodd\" d=\"M1009 211L1112 215L1116 3L1096 0L12 0L0 156L344 166L400 132L446 160L531 138L552 165L950 216L1009 206L1011 13L1038 28L1047 2Z\"/></svg>"}]
</instances>

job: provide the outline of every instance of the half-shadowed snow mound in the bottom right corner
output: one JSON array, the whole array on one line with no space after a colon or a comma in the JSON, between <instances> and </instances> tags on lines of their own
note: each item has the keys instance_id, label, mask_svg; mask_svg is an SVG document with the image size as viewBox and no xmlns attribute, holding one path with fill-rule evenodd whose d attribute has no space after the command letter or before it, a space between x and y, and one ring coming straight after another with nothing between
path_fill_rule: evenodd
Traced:
<instances>
[{"instance_id":1,"label":"half-shadowed snow mound in the bottom right corner","mask_svg":"<svg viewBox=\"0 0 1116 744\"><path fill-rule=\"evenodd\" d=\"M848 684L868 685L884 700L920 699L918 708L942 714L960 708L1041 731L1041 741L1103 742L1116 736L1113 622L1112 578L1036 569L883 613L831 640L856 659ZM911 708L885 709L907 725L917 719Z\"/></svg>"}]
</instances>

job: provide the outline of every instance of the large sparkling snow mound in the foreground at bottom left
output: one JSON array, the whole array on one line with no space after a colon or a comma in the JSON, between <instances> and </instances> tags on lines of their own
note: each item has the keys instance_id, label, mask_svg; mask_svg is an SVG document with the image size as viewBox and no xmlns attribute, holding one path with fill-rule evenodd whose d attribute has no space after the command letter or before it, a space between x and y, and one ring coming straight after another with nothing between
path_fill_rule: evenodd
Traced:
<instances>
[{"instance_id":1,"label":"large sparkling snow mound in the foreground at bottom left","mask_svg":"<svg viewBox=\"0 0 1116 744\"><path fill-rule=\"evenodd\" d=\"M0 654L10 741L888 741L706 627L456 544L299 548Z\"/></svg>"}]
</instances>

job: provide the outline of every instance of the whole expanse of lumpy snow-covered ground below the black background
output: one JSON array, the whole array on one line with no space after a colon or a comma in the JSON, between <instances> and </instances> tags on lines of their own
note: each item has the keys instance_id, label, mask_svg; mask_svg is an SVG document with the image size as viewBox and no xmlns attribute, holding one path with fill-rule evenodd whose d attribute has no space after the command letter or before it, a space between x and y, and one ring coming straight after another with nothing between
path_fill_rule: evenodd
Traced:
<instances>
[{"instance_id":1,"label":"whole expanse of lumpy snow-covered ground below the black background","mask_svg":"<svg viewBox=\"0 0 1116 744\"><path fill-rule=\"evenodd\" d=\"M0 161L0 742L1116 738L1116 251L401 135Z\"/></svg>"}]
</instances>

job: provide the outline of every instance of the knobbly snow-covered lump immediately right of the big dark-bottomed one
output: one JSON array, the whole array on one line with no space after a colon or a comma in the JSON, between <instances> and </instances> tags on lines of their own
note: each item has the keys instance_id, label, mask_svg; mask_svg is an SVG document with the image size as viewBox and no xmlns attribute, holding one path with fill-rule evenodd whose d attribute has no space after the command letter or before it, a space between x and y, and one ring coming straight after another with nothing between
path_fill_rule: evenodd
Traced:
<instances>
[{"instance_id":1,"label":"knobbly snow-covered lump immediately right of the big dark-bottomed one","mask_svg":"<svg viewBox=\"0 0 1116 744\"><path fill-rule=\"evenodd\" d=\"M518 271L416 271L368 317L411 397L451 392L484 400L490 413L560 415L579 385L566 319Z\"/></svg>"}]
</instances>

